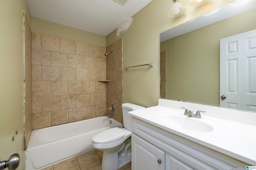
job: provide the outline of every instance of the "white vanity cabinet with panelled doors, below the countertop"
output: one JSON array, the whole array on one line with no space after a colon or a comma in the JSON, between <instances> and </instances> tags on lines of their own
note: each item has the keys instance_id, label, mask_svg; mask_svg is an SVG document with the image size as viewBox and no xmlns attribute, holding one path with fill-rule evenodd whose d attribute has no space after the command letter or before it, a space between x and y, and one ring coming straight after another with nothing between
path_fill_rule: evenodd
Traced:
<instances>
[{"instance_id":1,"label":"white vanity cabinet with panelled doors, below the countertop","mask_svg":"<svg viewBox=\"0 0 256 170\"><path fill-rule=\"evenodd\" d=\"M245 168L238 160L132 117L132 170Z\"/></svg>"}]
</instances>

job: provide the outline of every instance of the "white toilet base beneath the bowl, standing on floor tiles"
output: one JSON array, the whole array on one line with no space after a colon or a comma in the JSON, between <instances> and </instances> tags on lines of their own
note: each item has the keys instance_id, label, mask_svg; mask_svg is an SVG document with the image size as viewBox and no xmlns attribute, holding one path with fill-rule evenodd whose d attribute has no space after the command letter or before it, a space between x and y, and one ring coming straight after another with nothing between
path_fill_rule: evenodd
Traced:
<instances>
[{"instance_id":1,"label":"white toilet base beneath the bowl, standing on floor tiles","mask_svg":"<svg viewBox=\"0 0 256 170\"><path fill-rule=\"evenodd\" d=\"M104 151L102 156L102 170L118 170L122 166L131 162L131 138L116 152Z\"/></svg>"}]
</instances>

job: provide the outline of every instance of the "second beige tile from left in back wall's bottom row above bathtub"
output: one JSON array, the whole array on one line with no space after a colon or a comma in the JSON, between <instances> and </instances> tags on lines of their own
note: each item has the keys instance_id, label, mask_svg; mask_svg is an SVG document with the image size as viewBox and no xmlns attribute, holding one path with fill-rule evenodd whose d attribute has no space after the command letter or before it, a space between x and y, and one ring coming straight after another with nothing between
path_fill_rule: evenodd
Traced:
<instances>
[{"instance_id":1,"label":"second beige tile from left in back wall's bottom row above bathtub","mask_svg":"<svg viewBox=\"0 0 256 170\"><path fill-rule=\"evenodd\" d=\"M52 126L68 123L68 109L52 111Z\"/></svg>"}]
</instances>

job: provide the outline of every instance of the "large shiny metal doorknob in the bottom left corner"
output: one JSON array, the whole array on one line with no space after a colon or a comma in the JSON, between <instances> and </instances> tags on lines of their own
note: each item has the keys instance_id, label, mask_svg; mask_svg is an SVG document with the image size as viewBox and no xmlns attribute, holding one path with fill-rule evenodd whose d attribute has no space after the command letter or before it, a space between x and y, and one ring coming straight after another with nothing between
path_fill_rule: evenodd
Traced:
<instances>
[{"instance_id":1,"label":"large shiny metal doorknob in the bottom left corner","mask_svg":"<svg viewBox=\"0 0 256 170\"><path fill-rule=\"evenodd\" d=\"M0 161L0 170L8 167L9 170L16 170L20 163L20 155L15 153L12 154L9 160Z\"/></svg>"}]
</instances>

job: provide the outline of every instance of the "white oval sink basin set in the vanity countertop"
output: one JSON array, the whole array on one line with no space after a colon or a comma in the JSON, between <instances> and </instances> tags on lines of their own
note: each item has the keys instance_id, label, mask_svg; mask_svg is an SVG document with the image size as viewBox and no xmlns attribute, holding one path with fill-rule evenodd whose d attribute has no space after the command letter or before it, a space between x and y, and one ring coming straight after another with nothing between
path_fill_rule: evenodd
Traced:
<instances>
[{"instance_id":1,"label":"white oval sink basin set in the vanity countertop","mask_svg":"<svg viewBox=\"0 0 256 170\"><path fill-rule=\"evenodd\" d=\"M161 111L155 113L158 120L172 127L196 131L196 132L212 132L216 130L225 130L226 127L216 121L210 119L198 119L189 117L180 113L172 113L170 111Z\"/></svg>"}]
</instances>

